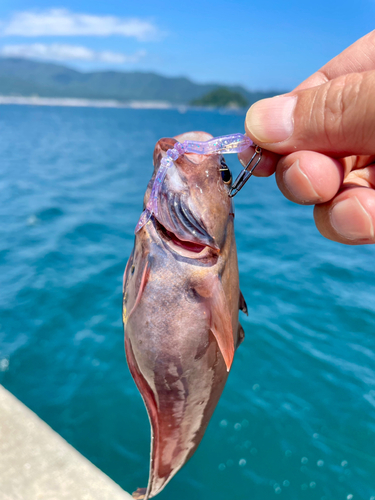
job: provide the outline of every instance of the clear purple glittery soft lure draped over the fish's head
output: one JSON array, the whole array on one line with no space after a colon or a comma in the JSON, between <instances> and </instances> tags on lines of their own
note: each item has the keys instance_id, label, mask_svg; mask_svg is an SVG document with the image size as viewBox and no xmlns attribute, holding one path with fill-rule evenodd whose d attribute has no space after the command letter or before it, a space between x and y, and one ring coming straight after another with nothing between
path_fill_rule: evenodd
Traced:
<instances>
[{"instance_id":1,"label":"clear purple glittery soft lure draped over the fish's head","mask_svg":"<svg viewBox=\"0 0 375 500\"><path fill-rule=\"evenodd\" d=\"M253 145L253 141L243 134L223 135L221 137L214 137L213 139L205 142L176 142L173 149L168 149L166 156L160 162L160 167L152 186L150 199L148 200L146 209L142 212L142 215L139 218L134 232L137 233L145 224L147 224L152 215L154 215L155 218L158 217L158 200L161 186L164 182L168 169L173 165L173 162L177 160L179 156L185 153L197 153L201 155L240 153Z\"/></svg>"}]
</instances>

